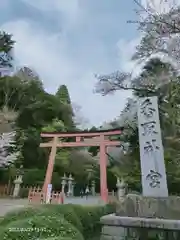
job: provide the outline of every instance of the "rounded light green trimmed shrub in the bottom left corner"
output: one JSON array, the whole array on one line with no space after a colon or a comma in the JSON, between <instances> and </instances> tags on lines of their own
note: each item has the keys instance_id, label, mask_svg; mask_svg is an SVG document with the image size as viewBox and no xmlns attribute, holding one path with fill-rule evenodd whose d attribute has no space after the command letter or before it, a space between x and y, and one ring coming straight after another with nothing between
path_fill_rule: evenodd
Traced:
<instances>
[{"instance_id":1,"label":"rounded light green trimmed shrub in the bottom left corner","mask_svg":"<svg viewBox=\"0 0 180 240\"><path fill-rule=\"evenodd\" d=\"M2 240L34 239L84 240L80 231L63 217L34 216L7 224L0 231Z\"/></svg>"}]
</instances>

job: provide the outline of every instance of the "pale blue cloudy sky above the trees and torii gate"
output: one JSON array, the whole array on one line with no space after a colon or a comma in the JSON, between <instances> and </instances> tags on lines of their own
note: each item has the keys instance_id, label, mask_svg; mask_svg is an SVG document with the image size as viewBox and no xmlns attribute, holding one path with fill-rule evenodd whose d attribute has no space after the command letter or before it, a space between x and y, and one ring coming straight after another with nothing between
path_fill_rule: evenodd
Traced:
<instances>
[{"instance_id":1,"label":"pale blue cloudy sky above the trees and torii gate","mask_svg":"<svg viewBox=\"0 0 180 240\"><path fill-rule=\"evenodd\" d=\"M0 9L0 29L16 41L16 65L33 68L50 93L66 84L90 125L120 115L131 93L95 94L94 75L133 69L139 42L137 25L127 23L138 19L133 0L1 0Z\"/></svg>"}]
</instances>

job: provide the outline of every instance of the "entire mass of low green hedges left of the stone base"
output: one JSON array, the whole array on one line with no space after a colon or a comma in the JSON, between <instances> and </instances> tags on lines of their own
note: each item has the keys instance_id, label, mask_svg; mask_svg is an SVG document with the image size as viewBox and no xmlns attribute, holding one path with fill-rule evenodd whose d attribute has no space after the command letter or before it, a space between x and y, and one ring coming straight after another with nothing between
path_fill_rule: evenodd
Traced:
<instances>
[{"instance_id":1,"label":"entire mass of low green hedges left of the stone base","mask_svg":"<svg viewBox=\"0 0 180 240\"><path fill-rule=\"evenodd\" d=\"M0 221L0 237L6 240L92 239L94 236L100 237L100 218L114 211L113 205L83 207L49 204L24 208L6 214Z\"/></svg>"}]
</instances>

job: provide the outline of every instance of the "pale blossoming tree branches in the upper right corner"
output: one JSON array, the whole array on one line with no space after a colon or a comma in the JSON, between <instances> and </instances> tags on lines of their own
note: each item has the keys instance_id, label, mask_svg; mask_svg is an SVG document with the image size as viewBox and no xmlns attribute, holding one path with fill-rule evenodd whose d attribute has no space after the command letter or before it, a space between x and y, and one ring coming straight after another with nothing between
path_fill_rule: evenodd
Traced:
<instances>
[{"instance_id":1,"label":"pale blossoming tree branches in the upper right corner","mask_svg":"<svg viewBox=\"0 0 180 240\"><path fill-rule=\"evenodd\" d=\"M137 0L134 2L138 5L141 13L145 14L143 14L143 18L141 17L138 26L143 37L132 59L142 62L153 54L160 53L171 63L175 62L179 65L180 8L174 4L169 12L157 14L151 9L145 9Z\"/></svg>"}]
</instances>

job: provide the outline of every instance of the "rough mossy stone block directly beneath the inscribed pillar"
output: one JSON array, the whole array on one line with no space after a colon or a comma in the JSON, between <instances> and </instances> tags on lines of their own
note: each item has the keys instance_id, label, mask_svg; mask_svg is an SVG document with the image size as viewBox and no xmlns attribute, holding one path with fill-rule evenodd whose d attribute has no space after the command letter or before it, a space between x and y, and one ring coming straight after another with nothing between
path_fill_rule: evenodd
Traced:
<instances>
[{"instance_id":1,"label":"rough mossy stone block directly beneath the inscribed pillar","mask_svg":"<svg viewBox=\"0 0 180 240\"><path fill-rule=\"evenodd\" d=\"M180 197L168 198L143 197L128 194L117 204L116 215L129 217L147 217L180 219Z\"/></svg>"}]
</instances>

